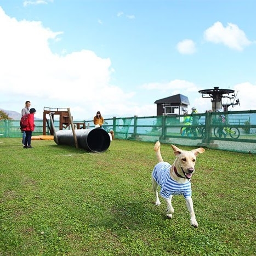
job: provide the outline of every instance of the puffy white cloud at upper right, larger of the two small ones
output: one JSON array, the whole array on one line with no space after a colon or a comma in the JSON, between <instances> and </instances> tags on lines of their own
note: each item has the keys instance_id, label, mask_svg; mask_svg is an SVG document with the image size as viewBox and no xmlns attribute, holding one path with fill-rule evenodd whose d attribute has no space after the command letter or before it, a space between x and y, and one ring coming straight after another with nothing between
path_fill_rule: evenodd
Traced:
<instances>
[{"instance_id":1,"label":"puffy white cloud at upper right, larger of the two small ones","mask_svg":"<svg viewBox=\"0 0 256 256\"><path fill-rule=\"evenodd\" d=\"M235 24L228 23L226 27L221 22L215 22L213 26L204 31L204 39L212 43L223 43L235 50L243 50L244 47L252 44L246 34Z\"/></svg>"}]
</instances>

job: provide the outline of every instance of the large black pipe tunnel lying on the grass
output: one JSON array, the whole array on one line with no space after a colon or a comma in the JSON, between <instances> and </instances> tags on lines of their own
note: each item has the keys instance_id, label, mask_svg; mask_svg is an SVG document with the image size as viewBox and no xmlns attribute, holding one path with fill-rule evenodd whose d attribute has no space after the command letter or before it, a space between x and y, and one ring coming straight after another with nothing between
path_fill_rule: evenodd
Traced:
<instances>
[{"instance_id":1,"label":"large black pipe tunnel lying on the grass","mask_svg":"<svg viewBox=\"0 0 256 256\"><path fill-rule=\"evenodd\" d=\"M78 147L90 152L104 152L110 146L110 135L104 129L79 129L75 130ZM54 135L58 145L75 146L72 130L58 130Z\"/></svg>"}]
</instances>

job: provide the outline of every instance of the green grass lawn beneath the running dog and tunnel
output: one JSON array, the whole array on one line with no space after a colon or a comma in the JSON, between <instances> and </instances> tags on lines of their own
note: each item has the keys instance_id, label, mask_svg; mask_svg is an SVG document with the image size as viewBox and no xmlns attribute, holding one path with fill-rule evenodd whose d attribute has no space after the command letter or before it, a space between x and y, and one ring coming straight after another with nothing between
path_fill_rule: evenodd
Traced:
<instances>
[{"instance_id":1,"label":"green grass lawn beneath the running dog and tunnel","mask_svg":"<svg viewBox=\"0 0 256 256\"><path fill-rule=\"evenodd\" d=\"M113 140L103 153L54 141L0 144L0 255L255 255L255 155L206 149L192 198L155 206L153 143ZM182 149L191 147L180 146ZM170 145L162 144L172 163Z\"/></svg>"}]
</instances>

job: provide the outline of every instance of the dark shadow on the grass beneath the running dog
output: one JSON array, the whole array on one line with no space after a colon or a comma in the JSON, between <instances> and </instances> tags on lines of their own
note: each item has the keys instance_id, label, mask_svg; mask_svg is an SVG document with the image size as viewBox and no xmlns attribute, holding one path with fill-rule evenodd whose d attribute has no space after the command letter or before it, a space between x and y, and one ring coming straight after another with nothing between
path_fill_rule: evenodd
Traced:
<instances>
[{"instance_id":1,"label":"dark shadow on the grass beneath the running dog","mask_svg":"<svg viewBox=\"0 0 256 256\"><path fill-rule=\"evenodd\" d=\"M100 215L97 217L98 211L94 210L95 214L90 213L90 217L94 217L88 220L88 225L90 227L101 226L104 229L110 229L115 232L118 230L136 232L162 229L164 227L169 228L169 225L177 225L179 221L185 222L184 225L190 227L189 212L186 209L184 198L177 198L178 200L176 200L176 204L184 204L184 206L177 207L181 217L177 214L177 216L174 216L174 219L168 219L166 217L166 203L162 200L161 206L156 206L153 192L150 189L151 187L149 187L147 195L141 195L141 197L138 195L123 197L123 194L120 197L120 193L115 191L112 195L111 205L105 206L106 214L102 215L101 209L99 211ZM108 202L110 201L108 200ZM182 218L186 218L186 221Z\"/></svg>"}]
</instances>

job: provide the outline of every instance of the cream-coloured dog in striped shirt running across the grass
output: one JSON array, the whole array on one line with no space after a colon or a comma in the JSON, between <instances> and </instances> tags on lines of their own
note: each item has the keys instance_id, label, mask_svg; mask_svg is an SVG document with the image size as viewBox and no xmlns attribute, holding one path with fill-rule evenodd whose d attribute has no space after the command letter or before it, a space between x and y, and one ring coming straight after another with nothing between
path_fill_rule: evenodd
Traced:
<instances>
[{"instance_id":1,"label":"cream-coloured dog in striped shirt running across the grass","mask_svg":"<svg viewBox=\"0 0 256 256\"><path fill-rule=\"evenodd\" d=\"M196 156L198 153L203 153L205 150L202 147L185 151L177 146L171 145L176 156L172 165L163 161L160 151L160 141L157 141L154 146L158 163L152 171L152 188L156 196L156 206L160 206L161 202L158 197L157 187L161 186L160 195L167 203L167 218L172 218L174 209L172 207L172 197L174 195L183 195L186 200L187 209L190 212L190 223L194 227L198 227L196 215L194 213L192 191L190 179L195 171Z\"/></svg>"}]
</instances>

